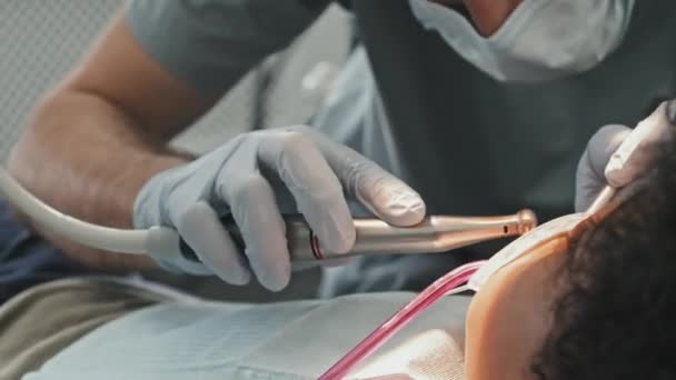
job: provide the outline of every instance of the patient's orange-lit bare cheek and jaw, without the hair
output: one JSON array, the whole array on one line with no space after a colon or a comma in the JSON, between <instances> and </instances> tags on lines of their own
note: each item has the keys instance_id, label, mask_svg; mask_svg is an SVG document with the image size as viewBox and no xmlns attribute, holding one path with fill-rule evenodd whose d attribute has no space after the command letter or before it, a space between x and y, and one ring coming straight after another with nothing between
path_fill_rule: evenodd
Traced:
<instances>
[{"instance_id":1,"label":"patient's orange-lit bare cheek and jaw, without the hair","mask_svg":"<svg viewBox=\"0 0 676 380\"><path fill-rule=\"evenodd\" d=\"M493 274L475 296L466 326L468 379L534 379L530 363L551 328L567 247L566 238L538 247Z\"/></svg>"}]
</instances>

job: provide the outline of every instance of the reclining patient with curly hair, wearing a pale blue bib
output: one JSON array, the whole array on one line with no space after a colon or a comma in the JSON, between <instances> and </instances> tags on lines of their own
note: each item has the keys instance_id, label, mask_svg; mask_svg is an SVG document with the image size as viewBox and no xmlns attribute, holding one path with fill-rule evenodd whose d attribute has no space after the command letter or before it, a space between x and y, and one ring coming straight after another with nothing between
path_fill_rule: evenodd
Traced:
<instances>
[{"instance_id":1,"label":"reclining patient with curly hair, wearing a pale blue bib","mask_svg":"<svg viewBox=\"0 0 676 380\"><path fill-rule=\"evenodd\" d=\"M459 379L467 366L471 380L676 378L676 142L660 149L633 196L565 254L528 258L544 259L491 310L484 288L471 306L448 297L356 377ZM0 308L0 378L312 379L411 297L251 306L138 279L52 281ZM496 323L477 330L471 318L489 312ZM466 340L486 346L464 366Z\"/></svg>"}]
</instances>

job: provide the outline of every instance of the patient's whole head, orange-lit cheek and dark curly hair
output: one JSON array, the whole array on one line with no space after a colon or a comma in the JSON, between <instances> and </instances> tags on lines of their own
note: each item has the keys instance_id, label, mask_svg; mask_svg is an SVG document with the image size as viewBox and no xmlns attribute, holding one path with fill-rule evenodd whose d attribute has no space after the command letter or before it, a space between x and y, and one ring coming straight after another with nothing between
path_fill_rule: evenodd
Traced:
<instances>
[{"instance_id":1,"label":"patient's whole head, orange-lit cheek and dark curly hair","mask_svg":"<svg viewBox=\"0 0 676 380\"><path fill-rule=\"evenodd\" d=\"M676 142L654 149L655 172L597 224L486 282L469 379L676 378Z\"/></svg>"}]
</instances>

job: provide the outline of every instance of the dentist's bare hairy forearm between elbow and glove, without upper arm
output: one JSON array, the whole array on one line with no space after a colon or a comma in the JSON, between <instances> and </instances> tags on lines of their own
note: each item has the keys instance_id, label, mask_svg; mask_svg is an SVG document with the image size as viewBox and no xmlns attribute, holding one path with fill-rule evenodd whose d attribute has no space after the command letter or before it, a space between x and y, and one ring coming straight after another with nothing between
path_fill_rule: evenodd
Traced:
<instances>
[{"instance_id":1,"label":"dentist's bare hairy forearm between elbow and glove, without upper arm","mask_svg":"<svg viewBox=\"0 0 676 380\"><path fill-rule=\"evenodd\" d=\"M131 228L133 201L143 183L188 159L150 138L106 99L62 91L38 107L9 169L29 191L64 213ZM95 251L36 229L66 254L97 269L151 267L145 257Z\"/></svg>"}]
</instances>

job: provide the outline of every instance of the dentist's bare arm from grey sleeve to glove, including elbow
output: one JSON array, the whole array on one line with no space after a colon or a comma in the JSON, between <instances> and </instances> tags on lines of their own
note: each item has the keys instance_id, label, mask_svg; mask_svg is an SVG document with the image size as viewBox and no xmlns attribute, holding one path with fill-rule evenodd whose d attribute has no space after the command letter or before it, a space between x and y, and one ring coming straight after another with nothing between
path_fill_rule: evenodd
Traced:
<instances>
[{"instance_id":1,"label":"dentist's bare arm from grey sleeve to glove, including elbow","mask_svg":"<svg viewBox=\"0 0 676 380\"><path fill-rule=\"evenodd\" d=\"M131 228L137 193L155 173L191 160L167 142L203 114L205 97L166 71L132 36L123 17L32 114L10 158L29 191L82 220ZM95 251L40 231L98 269L150 267L147 258Z\"/></svg>"}]
</instances>

